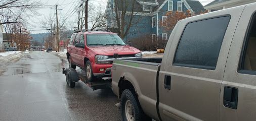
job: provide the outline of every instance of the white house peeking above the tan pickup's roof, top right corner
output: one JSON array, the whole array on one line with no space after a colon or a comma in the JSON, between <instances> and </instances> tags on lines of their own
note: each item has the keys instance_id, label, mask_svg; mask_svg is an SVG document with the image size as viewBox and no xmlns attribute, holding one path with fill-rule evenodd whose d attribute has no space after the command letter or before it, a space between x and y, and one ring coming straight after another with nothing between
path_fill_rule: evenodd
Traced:
<instances>
[{"instance_id":1,"label":"white house peeking above the tan pickup's roof, top right corner","mask_svg":"<svg viewBox=\"0 0 256 121\"><path fill-rule=\"evenodd\" d=\"M254 3L256 0L215 0L204 6L208 12Z\"/></svg>"}]
</instances>

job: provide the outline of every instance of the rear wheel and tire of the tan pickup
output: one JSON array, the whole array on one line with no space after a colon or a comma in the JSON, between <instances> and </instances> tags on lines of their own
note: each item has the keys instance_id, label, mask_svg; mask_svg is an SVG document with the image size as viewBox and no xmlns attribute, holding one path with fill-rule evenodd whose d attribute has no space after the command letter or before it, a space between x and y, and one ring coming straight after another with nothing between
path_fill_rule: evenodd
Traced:
<instances>
[{"instance_id":1,"label":"rear wheel and tire of the tan pickup","mask_svg":"<svg viewBox=\"0 0 256 121\"><path fill-rule=\"evenodd\" d=\"M143 112L135 92L128 89L125 89L121 95L121 114L123 121L151 120L151 118Z\"/></svg>"}]
</instances>

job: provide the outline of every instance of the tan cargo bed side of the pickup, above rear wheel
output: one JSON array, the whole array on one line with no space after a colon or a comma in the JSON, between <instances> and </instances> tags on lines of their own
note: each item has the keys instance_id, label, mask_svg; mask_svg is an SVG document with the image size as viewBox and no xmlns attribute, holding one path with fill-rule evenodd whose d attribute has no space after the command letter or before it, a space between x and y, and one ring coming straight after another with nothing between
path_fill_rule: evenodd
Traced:
<instances>
[{"instance_id":1,"label":"tan cargo bed side of the pickup, above rear wheel","mask_svg":"<svg viewBox=\"0 0 256 121\"><path fill-rule=\"evenodd\" d=\"M162 58L117 59L112 66L112 90L118 95L119 81L129 81L138 94L145 113L157 118L158 74ZM150 111L155 109L155 111Z\"/></svg>"}]
</instances>

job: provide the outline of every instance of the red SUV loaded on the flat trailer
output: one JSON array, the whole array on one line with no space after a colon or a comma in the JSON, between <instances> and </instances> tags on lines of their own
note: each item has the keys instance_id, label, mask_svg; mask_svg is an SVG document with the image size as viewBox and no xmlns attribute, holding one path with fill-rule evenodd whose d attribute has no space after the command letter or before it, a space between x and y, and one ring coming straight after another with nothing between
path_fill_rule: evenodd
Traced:
<instances>
[{"instance_id":1,"label":"red SUV loaded on the flat trailer","mask_svg":"<svg viewBox=\"0 0 256 121\"><path fill-rule=\"evenodd\" d=\"M67 47L69 67L83 69L88 81L111 76L114 59L141 57L139 49L127 45L118 34L110 31L77 31Z\"/></svg>"}]
</instances>

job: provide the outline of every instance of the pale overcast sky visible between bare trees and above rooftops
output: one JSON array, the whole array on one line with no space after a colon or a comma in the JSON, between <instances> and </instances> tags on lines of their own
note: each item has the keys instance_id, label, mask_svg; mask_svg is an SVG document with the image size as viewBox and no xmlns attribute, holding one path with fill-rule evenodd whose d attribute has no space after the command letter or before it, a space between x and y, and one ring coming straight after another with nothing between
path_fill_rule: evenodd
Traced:
<instances>
[{"instance_id":1,"label":"pale overcast sky visible between bare trees and above rooftops","mask_svg":"<svg viewBox=\"0 0 256 121\"><path fill-rule=\"evenodd\" d=\"M59 9L62 9L62 10L58 10L59 23L62 23L63 20L67 20L68 18L70 18L70 19L68 19L67 22L65 22L65 24L68 25L68 22L74 21L74 17L76 16L76 14L73 14L71 12L74 10L75 6L77 6L79 1L81 1L81 0L55 0L55 1L41 0L41 3L43 3L45 5L43 6L42 9L37 11L40 15L31 17L29 19L29 22L28 22L29 24L27 27L28 30L31 33L48 32L45 30L45 28L40 27L40 21L43 20L45 16L49 16L49 14L55 15L56 10L51 9L51 8L54 8L55 7L54 5L56 5L56 4L59 4ZM199 1L204 6L204 5L212 2L213 0L199 0ZM102 9L105 10L107 0L89 0L89 3L95 4L95 5L100 4L104 7ZM73 14L73 16L71 16L72 14Z\"/></svg>"}]
</instances>

